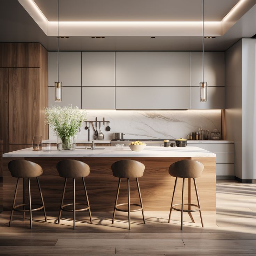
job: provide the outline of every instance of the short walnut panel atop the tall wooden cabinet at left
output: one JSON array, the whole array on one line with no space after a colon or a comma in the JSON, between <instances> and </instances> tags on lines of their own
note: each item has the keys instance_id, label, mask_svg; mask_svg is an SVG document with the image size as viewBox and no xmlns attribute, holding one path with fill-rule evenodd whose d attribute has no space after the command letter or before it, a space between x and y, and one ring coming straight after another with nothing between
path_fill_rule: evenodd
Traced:
<instances>
[{"instance_id":1,"label":"short walnut panel atop the tall wooden cabinet at left","mask_svg":"<svg viewBox=\"0 0 256 256\"><path fill-rule=\"evenodd\" d=\"M0 43L0 67L40 67L40 43Z\"/></svg>"}]
</instances>

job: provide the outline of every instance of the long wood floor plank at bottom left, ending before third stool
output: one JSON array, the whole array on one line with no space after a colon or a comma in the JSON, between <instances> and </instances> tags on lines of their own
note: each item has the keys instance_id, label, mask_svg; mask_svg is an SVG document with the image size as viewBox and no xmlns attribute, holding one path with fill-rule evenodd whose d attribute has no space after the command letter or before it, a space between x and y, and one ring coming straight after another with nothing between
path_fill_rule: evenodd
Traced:
<instances>
[{"instance_id":1,"label":"long wood floor plank at bottom left, ending before third stool","mask_svg":"<svg viewBox=\"0 0 256 256\"><path fill-rule=\"evenodd\" d=\"M115 254L115 246L0 246L1 254Z\"/></svg>"}]
</instances>

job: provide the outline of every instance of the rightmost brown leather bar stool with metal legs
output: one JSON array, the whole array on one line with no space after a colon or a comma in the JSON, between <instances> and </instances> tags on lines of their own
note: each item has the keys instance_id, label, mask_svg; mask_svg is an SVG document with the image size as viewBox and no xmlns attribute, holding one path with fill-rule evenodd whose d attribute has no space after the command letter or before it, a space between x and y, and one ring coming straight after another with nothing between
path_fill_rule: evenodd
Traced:
<instances>
[{"instance_id":1,"label":"rightmost brown leather bar stool with metal legs","mask_svg":"<svg viewBox=\"0 0 256 256\"><path fill-rule=\"evenodd\" d=\"M187 213L191 213L193 211L199 211L200 218L201 218L201 224L203 227L203 219L202 219L200 202L199 202L199 197L198 197L197 184L195 183L195 178L198 178L201 176L203 168L204 168L204 166L202 163L195 161L195 160L190 160L190 159L177 161L169 167L169 174L176 178L175 178L175 184L174 184L174 190L173 190L173 198L171 199L171 209L170 209L168 223L170 223L172 209L181 211L181 229L182 229L182 225L183 225L183 212L185 211ZM175 193L178 178L182 178L182 203L177 203L176 205L173 205L174 193ZM185 178L189 178L189 179L193 178L198 205L194 205L192 203L184 203L184 181L185 181ZM178 209L175 207L178 205L181 205L181 209ZM188 206L187 210L184 210L184 205ZM190 209L191 206L196 207L196 209L191 210ZM191 216L191 218L192 218L192 216Z\"/></svg>"}]
</instances>

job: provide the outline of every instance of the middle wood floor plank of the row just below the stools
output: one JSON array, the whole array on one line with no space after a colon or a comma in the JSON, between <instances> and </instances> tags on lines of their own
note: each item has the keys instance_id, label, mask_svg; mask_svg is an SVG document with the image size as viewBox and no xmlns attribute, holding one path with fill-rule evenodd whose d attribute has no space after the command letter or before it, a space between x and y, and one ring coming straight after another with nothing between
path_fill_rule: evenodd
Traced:
<instances>
[{"instance_id":1,"label":"middle wood floor plank of the row just below the stools","mask_svg":"<svg viewBox=\"0 0 256 256\"><path fill-rule=\"evenodd\" d=\"M114 246L184 246L182 239L58 239L55 246L86 246L86 245L114 245Z\"/></svg>"}]
</instances>

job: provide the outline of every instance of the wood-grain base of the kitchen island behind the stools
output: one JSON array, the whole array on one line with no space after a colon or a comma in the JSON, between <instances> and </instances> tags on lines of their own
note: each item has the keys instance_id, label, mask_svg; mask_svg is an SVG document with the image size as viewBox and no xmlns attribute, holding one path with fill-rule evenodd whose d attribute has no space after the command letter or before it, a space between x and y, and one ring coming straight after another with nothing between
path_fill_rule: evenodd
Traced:
<instances>
[{"instance_id":1,"label":"wood-grain base of the kitchen island behind the stools","mask_svg":"<svg viewBox=\"0 0 256 256\"><path fill-rule=\"evenodd\" d=\"M16 178L11 177L7 168L8 162L14 158L4 158L3 164L3 210L10 210L13 202ZM38 163L43 168L43 175L39 177L43 198L47 211L58 211L61 203L64 178L58 176L56 164L65 158L19 158ZM88 190L91 211L112 211L118 186L118 178L113 177L111 165L121 159L135 159L127 157L85 157L69 158L86 162L90 166L90 175L85 178ZM201 158L136 158L144 163L144 176L139 178L145 211L169 211L173 194L175 178L168 173L171 163L194 159L205 166L202 176L196 179L199 199L202 211L216 211L216 174L215 157ZM40 202L36 180L31 179L32 204ZM193 180L185 182L184 202L191 198L191 202L197 204L194 192ZM26 183L27 189L27 183ZM68 179L64 202L72 202L73 190L72 179ZM191 193L190 193L191 191ZM178 179L174 203L181 202L182 178ZM131 203L139 203L136 180L130 180ZM26 191L26 198L28 193ZM76 201L86 202L82 179L76 179ZM22 202L22 182L18 190L17 202ZM118 203L127 202L127 179L122 179Z\"/></svg>"}]
</instances>

